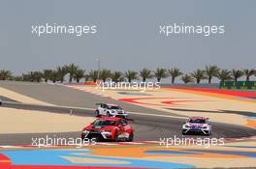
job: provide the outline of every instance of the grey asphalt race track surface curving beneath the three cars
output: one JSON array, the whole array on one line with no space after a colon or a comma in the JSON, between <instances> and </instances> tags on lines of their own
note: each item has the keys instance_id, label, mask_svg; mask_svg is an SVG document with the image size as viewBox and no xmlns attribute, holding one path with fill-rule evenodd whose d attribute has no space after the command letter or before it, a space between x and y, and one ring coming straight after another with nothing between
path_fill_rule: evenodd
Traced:
<instances>
[{"instance_id":1,"label":"grey asphalt race track surface curving beneath the three cars","mask_svg":"<svg viewBox=\"0 0 256 169\"><path fill-rule=\"evenodd\" d=\"M181 125L184 123L184 120L166 116L154 116L154 114L177 116L176 114L161 112L158 110L153 110L142 106L129 104L126 102L120 102L109 98L101 98L93 94L80 92L79 90L70 89L59 85L20 82L0 82L0 86L34 99L40 99L49 103L53 103L55 105L62 105L29 105L9 99L6 100L5 98L3 98L4 103L2 106L4 107L13 107L27 110L41 110L68 114L70 113L71 109L71 107L69 106L72 106L73 115L75 116L94 116L93 108L95 107L96 102L113 102L120 104L125 110L131 112L130 118L134 120L134 122L132 122L132 126L135 129L136 141L158 141L160 138L174 138L175 135L176 137L182 137ZM140 115L134 114L133 112L139 112ZM144 113L146 113L146 115L144 115ZM211 137L216 138L236 138L256 135L256 130L252 128L240 127L235 125L225 125L219 123L212 123L212 132L213 133ZM0 134L0 145L31 144L32 137L45 137L46 134L48 134L49 136L55 135L58 137L67 138L80 137L80 131L62 133Z\"/></svg>"}]
</instances>

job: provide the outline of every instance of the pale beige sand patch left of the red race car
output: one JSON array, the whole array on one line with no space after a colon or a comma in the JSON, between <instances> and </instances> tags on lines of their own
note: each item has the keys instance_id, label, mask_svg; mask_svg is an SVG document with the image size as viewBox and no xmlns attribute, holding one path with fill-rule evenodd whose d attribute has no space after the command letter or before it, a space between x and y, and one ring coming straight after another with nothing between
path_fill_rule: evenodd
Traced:
<instances>
[{"instance_id":1,"label":"pale beige sand patch left of the red race car","mask_svg":"<svg viewBox=\"0 0 256 169\"><path fill-rule=\"evenodd\" d=\"M92 117L4 107L0 107L0 114L0 134L80 131L94 120Z\"/></svg>"}]
</instances>

